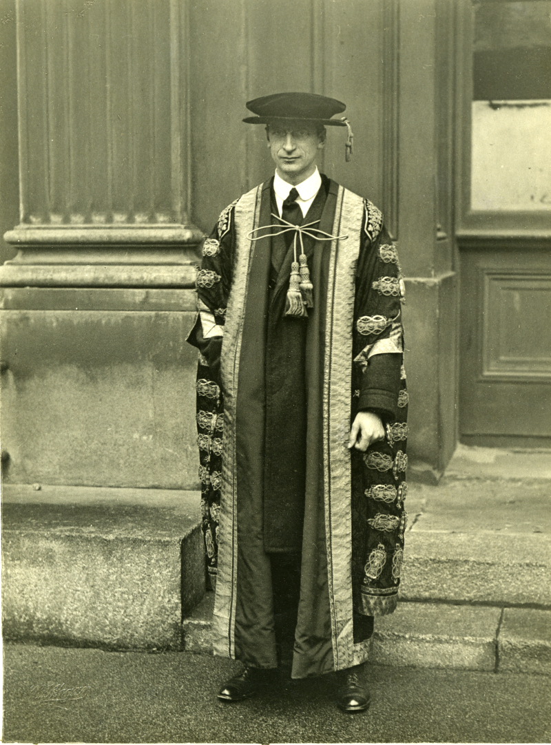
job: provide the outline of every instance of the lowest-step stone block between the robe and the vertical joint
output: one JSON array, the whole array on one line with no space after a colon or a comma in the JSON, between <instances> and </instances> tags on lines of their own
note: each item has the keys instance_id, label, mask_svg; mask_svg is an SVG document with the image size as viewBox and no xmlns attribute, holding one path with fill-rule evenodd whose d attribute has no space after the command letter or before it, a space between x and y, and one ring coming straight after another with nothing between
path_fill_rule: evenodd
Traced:
<instances>
[{"instance_id":1,"label":"lowest-step stone block between the robe and the vertical joint","mask_svg":"<svg viewBox=\"0 0 551 745\"><path fill-rule=\"evenodd\" d=\"M375 665L494 671L499 608L399 603L377 618Z\"/></svg>"}]
</instances>

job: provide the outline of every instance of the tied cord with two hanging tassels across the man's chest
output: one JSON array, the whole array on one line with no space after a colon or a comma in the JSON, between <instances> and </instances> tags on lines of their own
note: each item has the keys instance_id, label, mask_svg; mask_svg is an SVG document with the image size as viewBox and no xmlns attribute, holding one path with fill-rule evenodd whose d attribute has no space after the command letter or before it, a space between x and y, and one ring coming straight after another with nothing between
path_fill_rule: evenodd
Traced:
<instances>
[{"instance_id":1,"label":"tied cord with two hanging tassels across the man's chest","mask_svg":"<svg viewBox=\"0 0 551 745\"><path fill-rule=\"evenodd\" d=\"M288 221L280 218L279 215L274 215L272 212L272 218L276 218L280 221L277 225L262 225L254 230L248 232L247 237L251 241L259 241L261 238L274 238L275 235L281 235L289 230L295 231L295 237L293 239L293 251L295 254L295 261L291 264L291 277L289 279L289 290L287 291L287 297L285 302L285 315L295 316L297 318L308 317L308 311L306 308L314 307L312 280L310 279L310 270L308 268L308 259L304 253L303 235L307 235L309 238L313 238L315 241L343 241L348 238L347 235L331 235L330 233L324 232L319 228L312 228L312 225L318 223L319 220L315 220L306 225L294 225ZM286 227L283 230L278 230L274 233L265 233L265 235L255 235L259 230L269 230L272 228L280 228L281 223ZM300 240L300 256L297 261L297 235Z\"/></svg>"}]
</instances>

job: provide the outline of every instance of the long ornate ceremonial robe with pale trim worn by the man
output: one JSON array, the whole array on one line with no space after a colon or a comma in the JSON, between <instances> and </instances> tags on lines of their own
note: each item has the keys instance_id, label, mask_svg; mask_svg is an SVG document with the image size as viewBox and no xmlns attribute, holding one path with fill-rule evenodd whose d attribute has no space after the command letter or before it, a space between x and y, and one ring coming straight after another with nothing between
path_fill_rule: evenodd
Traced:
<instances>
[{"instance_id":1,"label":"long ornate ceremonial robe with pale trim worn by the man","mask_svg":"<svg viewBox=\"0 0 551 745\"><path fill-rule=\"evenodd\" d=\"M292 247L274 267L281 238L258 230L277 223L270 180L224 209L204 241L189 335L200 349L215 653L277 665L266 552L299 550L297 678L367 659L357 619L394 611L406 528L400 265L371 202L327 177L322 189L303 223L319 215L315 227L333 238L305 238L308 317L283 314ZM364 409L382 414L385 441L349 451L350 424Z\"/></svg>"}]
</instances>

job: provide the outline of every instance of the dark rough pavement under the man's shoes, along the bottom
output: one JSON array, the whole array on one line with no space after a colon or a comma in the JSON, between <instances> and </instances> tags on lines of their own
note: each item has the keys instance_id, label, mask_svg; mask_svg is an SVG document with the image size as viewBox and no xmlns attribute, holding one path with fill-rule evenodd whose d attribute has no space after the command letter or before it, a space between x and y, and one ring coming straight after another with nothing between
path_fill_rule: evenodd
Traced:
<instances>
[{"instance_id":1,"label":"dark rough pavement under the man's shoes, along the bottom","mask_svg":"<svg viewBox=\"0 0 551 745\"><path fill-rule=\"evenodd\" d=\"M7 644L4 743L548 743L551 678L372 665L371 708L343 714L330 676L239 704L239 664L186 652Z\"/></svg>"}]
</instances>

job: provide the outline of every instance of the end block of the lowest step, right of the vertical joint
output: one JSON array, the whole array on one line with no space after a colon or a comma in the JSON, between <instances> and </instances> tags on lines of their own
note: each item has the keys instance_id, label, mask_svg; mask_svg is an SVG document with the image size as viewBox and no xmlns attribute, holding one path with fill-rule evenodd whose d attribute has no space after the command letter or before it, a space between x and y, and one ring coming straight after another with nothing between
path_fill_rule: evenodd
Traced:
<instances>
[{"instance_id":1,"label":"end block of the lowest step, right of the vertical joint","mask_svg":"<svg viewBox=\"0 0 551 745\"><path fill-rule=\"evenodd\" d=\"M500 672L551 675L551 612L506 608L498 644Z\"/></svg>"}]
</instances>

